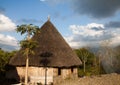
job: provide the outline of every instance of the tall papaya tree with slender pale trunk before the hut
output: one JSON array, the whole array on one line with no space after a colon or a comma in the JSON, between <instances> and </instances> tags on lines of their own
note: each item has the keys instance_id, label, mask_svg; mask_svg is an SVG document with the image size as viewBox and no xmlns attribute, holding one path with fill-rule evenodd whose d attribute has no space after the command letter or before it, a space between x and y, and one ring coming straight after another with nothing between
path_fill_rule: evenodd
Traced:
<instances>
[{"instance_id":1,"label":"tall papaya tree with slender pale trunk before the hut","mask_svg":"<svg viewBox=\"0 0 120 85\"><path fill-rule=\"evenodd\" d=\"M26 56L26 70L25 70L25 85L28 83L28 66L29 66L29 55L34 54L33 49L36 47L37 42L31 39L31 36L38 32L38 26L20 25L17 26L16 31L20 32L21 35L26 34L25 40L20 42L20 46L24 49L24 55Z\"/></svg>"}]
</instances>

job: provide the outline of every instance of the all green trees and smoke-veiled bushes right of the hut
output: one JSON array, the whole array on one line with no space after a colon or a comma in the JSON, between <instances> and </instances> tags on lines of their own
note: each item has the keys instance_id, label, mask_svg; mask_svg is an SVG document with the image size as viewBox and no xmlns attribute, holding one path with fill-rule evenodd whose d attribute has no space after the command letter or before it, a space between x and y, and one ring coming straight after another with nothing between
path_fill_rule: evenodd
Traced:
<instances>
[{"instance_id":1,"label":"all green trees and smoke-veiled bushes right of the hut","mask_svg":"<svg viewBox=\"0 0 120 85\"><path fill-rule=\"evenodd\" d=\"M75 49L75 52L83 63L78 70L79 76L120 73L120 46L103 45L97 50L83 47Z\"/></svg>"}]
</instances>

